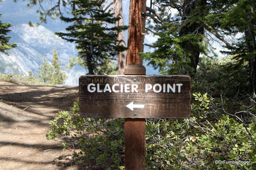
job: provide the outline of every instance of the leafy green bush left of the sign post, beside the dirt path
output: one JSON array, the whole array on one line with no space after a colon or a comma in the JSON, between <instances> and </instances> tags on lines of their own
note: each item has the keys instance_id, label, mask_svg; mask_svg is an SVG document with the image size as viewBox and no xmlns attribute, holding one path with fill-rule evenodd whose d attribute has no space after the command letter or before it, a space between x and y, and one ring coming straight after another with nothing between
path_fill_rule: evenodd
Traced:
<instances>
[{"instance_id":1,"label":"leafy green bush left of the sign post, beside the dirt path","mask_svg":"<svg viewBox=\"0 0 256 170\"><path fill-rule=\"evenodd\" d=\"M92 161L95 170L112 170L124 163L124 119L93 119L79 116L74 102L71 114L60 111L50 121L47 139L63 139L64 148L79 148L74 158Z\"/></svg>"}]
</instances>

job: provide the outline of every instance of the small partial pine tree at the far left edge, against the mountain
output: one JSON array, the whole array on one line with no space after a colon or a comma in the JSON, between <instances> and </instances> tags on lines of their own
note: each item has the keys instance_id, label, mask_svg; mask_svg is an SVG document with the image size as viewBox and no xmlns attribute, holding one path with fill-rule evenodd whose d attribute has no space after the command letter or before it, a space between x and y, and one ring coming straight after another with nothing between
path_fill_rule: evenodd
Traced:
<instances>
[{"instance_id":1,"label":"small partial pine tree at the far left edge, against the mountain","mask_svg":"<svg viewBox=\"0 0 256 170\"><path fill-rule=\"evenodd\" d=\"M1 14L0 17L2 17ZM7 33L11 31L9 30L10 26L11 23L2 23L0 21L0 52L3 52L5 54L7 54L6 50L15 48L17 46L17 43L9 43L11 37L6 36Z\"/></svg>"}]
</instances>

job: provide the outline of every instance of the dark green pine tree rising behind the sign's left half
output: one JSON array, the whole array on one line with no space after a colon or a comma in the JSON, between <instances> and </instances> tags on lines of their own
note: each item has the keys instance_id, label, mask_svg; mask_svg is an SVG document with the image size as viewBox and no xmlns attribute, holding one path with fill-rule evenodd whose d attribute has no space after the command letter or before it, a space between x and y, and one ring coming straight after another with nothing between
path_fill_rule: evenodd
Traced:
<instances>
[{"instance_id":1,"label":"dark green pine tree rising behind the sign's left half","mask_svg":"<svg viewBox=\"0 0 256 170\"><path fill-rule=\"evenodd\" d=\"M115 60L117 52L124 51L124 46L115 45L117 32L127 29L126 26L108 26L119 20L112 13L102 9L102 2L98 0L72 0L73 17L60 17L71 23L66 28L68 33L57 32L63 39L75 42L79 57L84 60L88 74L103 74L100 67L106 62Z\"/></svg>"}]
</instances>

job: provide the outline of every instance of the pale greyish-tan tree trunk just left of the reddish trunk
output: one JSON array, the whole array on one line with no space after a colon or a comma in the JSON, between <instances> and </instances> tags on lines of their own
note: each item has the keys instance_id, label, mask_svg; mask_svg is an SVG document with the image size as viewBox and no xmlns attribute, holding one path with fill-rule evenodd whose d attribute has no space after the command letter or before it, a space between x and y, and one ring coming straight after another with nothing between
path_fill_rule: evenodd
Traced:
<instances>
[{"instance_id":1,"label":"pale greyish-tan tree trunk just left of the reddish trunk","mask_svg":"<svg viewBox=\"0 0 256 170\"><path fill-rule=\"evenodd\" d=\"M114 0L114 17L120 17L120 20L115 22L115 26L124 26L124 15L123 15L123 8L122 8L122 0ZM126 46L125 44L125 34L124 30L118 32L117 40L121 42L117 42L117 46ZM124 68L126 66L126 56L127 50L118 53L118 73L119 75L124 75Z\"/></svg>"}]
</instances>

